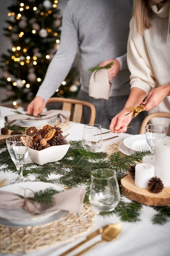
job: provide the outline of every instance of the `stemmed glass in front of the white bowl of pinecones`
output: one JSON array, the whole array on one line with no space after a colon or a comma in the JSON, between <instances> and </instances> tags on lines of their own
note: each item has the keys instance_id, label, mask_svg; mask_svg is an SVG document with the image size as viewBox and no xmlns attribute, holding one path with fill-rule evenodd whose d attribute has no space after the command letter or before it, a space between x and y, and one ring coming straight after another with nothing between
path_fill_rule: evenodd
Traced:
<instances>
[{"instance_id":1,"label":"stemmed glass in front of the white bowl of pinecones","mask_svg":"<svg viewBox=\"0 0 170 256\"><path fill-rule=\"evenodd\" d=\"M23 137L23 142L20 137ZM14 162L18 176L16 179L11 180L11 184L31 181L30 179L23 177L23 163L28 156L28 149L30 144L30 137L28 135L13 135L6 138L6 145L8 152Z\"/></svg>"}]
</instances>

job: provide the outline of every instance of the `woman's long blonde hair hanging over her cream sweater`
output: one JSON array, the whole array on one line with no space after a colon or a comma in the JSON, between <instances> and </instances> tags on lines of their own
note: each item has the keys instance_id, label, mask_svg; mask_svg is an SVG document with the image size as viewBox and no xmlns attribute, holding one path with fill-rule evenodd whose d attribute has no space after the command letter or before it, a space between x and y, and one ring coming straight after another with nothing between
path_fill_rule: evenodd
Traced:
<instances>
[{"instance_id":1,"label":"woman's long blonde hair hanging over her cream sweater","mask_svg":"<svg viewBox=\"0 0 170 256\"><path fill-rule=\"evenodd\" d=\"M150 3L149 0L134 0L133 17L136 23L136 32L143 35L146 29L150 28Z\"/></svg>"}]
</instances>

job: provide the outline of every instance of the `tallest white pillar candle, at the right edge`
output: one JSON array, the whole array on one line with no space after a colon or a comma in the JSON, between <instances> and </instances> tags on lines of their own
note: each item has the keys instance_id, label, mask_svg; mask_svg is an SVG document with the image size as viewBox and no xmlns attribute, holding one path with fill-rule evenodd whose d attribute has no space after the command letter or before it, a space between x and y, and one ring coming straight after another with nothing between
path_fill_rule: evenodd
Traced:
<instances>
[{"instance_id":1,"label":"tallest white pillar candle, at the right edge","mask_svg":"<svg viewBox=\"0 0 170 256\"><path fill-rule=\"evenodd\" d=\"M155 176L161 179L164 187L170 187L170 140L156 140L155 158Z\"/></svg>"}]
</instances>

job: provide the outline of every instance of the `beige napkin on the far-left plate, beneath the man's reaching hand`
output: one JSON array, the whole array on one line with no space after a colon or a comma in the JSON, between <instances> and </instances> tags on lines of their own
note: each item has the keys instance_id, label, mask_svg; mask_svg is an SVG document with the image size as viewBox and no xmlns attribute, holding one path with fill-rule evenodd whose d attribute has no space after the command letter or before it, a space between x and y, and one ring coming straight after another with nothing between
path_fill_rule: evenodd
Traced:
<instances>
[{"instance_id":1,"label":"beige napkin on the far-left plate, beneath the man's reaching hand","mask_svg":"<svg viewBox=\"0 0 170 256\"><path fill-rule=\"evenodd\" d=\"M41 114L41 117L37 116L28 116L23 114L14 114L5 116L6 123L8 125L13 125L17 120L42 120L42 119L48 119L52 117L59 116L60 122L64 123L70 116L70 111L67 110L49 110L45 111Z\"/></svg>"}]
</instances>

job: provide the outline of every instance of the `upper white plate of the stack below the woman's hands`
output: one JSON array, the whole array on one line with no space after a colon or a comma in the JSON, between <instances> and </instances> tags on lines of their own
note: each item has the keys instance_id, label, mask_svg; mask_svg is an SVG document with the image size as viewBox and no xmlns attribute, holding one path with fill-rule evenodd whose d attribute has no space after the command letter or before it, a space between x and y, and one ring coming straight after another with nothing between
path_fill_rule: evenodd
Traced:
<instances>
[{"instance_id":1,"label":"upper white plate of the stack below the woman's hands","mask_svg":"<svg viewBox=\"0 0 170 256\"><path fill-rule=\"evenodd\" d=\"M167 136L166 139L170 140L170 137ZM127 137L123 143L127 148L135 151L150 150L147 145L145 134L138 134Z\"/></svg>"}]
</instances>

